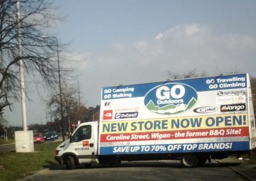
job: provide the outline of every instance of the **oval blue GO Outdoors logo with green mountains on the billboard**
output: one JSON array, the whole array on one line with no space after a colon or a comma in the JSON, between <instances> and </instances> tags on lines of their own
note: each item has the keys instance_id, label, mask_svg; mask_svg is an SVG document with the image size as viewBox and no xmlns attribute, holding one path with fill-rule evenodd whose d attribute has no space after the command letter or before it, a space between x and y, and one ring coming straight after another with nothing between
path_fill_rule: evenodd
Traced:
<instances>
[{"instance_id":1,"label":"oval blue GO Outdoors logo with green mountains on the billboard","mask_svg":"<svg viewBox=\"0 0 256 181\"><path fill-rule=\"evenodd\" d=\"M175 114L193 107L197 94L193 87L183 83L167 83L147 92L144 104L151 112Z\"/></svg>"}]
</instances>

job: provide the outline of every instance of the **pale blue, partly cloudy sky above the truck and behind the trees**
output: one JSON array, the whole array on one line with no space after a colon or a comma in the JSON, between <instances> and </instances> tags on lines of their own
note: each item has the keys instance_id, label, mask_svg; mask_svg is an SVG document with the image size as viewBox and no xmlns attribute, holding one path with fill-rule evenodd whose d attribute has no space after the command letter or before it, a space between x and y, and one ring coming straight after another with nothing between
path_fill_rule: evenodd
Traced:
<instances>
[{"instance_id":1,"label":"pale blue, partly cloudy sky above the truck and behind the trees","mask_svg":"<svg viewBox=\"0 0 256 181\"><path fill-rule=\"evenodd\" d=\"M163 81L170 73L195 69L210 76L234 71L256 76L256 1L54 3L67 17L52 34L71 42L61 54L79 60L74 66L88 107L100 104L101 87ZM45 124L45 103L28 89L28 124ZM20 103L4 117L21 126Z\"/></svg>"}]
</instances>

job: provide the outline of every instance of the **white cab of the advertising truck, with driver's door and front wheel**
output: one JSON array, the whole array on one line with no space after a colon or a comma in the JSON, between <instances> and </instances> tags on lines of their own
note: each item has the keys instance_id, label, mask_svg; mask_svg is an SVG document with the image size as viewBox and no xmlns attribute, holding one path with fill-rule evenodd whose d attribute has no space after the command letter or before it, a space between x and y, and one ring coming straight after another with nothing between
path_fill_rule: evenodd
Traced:
<instances>
[{"instance_id":1,"label":"white cab of the advertising truck, with driver's door and front wheel","mask_svg":"<svg viewBox=\"0 0 256 181\"><path fill-rule=\"evenodd\" d=\"M97 159L98 122L84 122L70 138L56 148L55 159L73 169L79 164L99 163Z\"/></svg>"}]
</instances>

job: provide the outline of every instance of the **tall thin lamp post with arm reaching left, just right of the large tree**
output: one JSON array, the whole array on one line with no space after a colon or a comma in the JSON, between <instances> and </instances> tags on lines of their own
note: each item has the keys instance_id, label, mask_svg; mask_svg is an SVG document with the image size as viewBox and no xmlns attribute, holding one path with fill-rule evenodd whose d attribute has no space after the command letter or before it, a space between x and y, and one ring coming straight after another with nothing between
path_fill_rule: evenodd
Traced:
<instances>
[{"instance_id":1,"label":"tall thin lamp post with arm reaching left, just right of the large tree","mask_svg":"<svg viewBox=\"0 0 256 181\"><path fill-rule=\"evenodd\" d=\"M60 88L60 121L61 121L61 134L62 134L62 141L65 141L64 124L63 124L63 103L62 103L62 91L61 91L61 80L60 80L60 56L59 56L58 38L56 38L55 36L42 36L42 38L54 38L54 39L56 40L57 59L58 59L58 74L59 74L59 88Z\"/></svg>"}]
</instances>

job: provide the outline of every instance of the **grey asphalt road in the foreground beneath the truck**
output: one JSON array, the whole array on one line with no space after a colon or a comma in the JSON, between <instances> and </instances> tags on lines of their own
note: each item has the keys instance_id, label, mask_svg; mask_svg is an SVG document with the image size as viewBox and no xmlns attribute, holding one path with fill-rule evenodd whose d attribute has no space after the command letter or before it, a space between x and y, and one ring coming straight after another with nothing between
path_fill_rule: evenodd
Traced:
<instances>
[{"instance_id":1,"label":"grey asphalt road in the foreground beneath the truck","mask_svg":"<svg viewBox=\"0 0 256 181\"><path fill-rule=\"evenodd\" d=\"M66 170L65 166L45 169L25 180L246 180L230 169L239 163L221 164L216 161L198 168L182 168L179 161L149 161L122 163L120 166L94 165Z\"/></svg>"}]
</instances>

